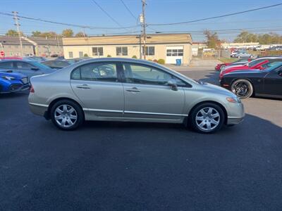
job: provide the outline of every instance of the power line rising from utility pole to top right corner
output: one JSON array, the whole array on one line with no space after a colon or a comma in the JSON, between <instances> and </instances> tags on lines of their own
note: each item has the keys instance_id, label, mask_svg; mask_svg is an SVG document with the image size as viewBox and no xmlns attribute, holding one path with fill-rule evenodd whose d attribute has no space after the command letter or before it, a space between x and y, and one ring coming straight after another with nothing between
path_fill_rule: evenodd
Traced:
<instances>
[{"instance_id":1,"label":"power line rising from utility pole to top right corner","mask_svg":"<svg viewBox=\"0 0 282 211\"><path fill-rule=\"evenodd\" d=\"M199 22L199 21L203 21L203 20L210 20L210 19L215 19L215 18L223 18L223 17L227 17L227 16L231 16L231 15L238 15L238 14L242 14L242 13L249 13L252 11L259 11L265 8L272 8L275 6L281 6L281 4L274 4L271 6L263 6L263 7L259 7L259 8L254 8L251 10L247 10L247 11L241 11L241 12L237 12L237 13L229 13L226 15L218 15L218 16L214 16L214 17L209 17L209 18L201 18L201 19L197 19L197 20L190 20L190 21L184 21L184 22L178 22L178 23L157 23L157 24L149 24L149 25L180 25L180 24L185 24L185 23L195 23L195 22Z\"/></svg>"}]
</instances>

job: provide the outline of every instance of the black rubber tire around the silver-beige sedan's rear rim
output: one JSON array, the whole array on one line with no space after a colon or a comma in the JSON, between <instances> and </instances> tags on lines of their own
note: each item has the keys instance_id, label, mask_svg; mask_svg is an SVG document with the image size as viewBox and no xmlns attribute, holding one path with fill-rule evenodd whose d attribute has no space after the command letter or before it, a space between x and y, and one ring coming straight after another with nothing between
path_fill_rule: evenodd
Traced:
<instances>
[{"instance_id":1,"label":"black rubber tire around the silver-beige sedan's rear rim","mask_svg":"<svg viewBox=\"0 0 282 211\"><path fill-rule=\"evenodd\" d=\"M67 114L68 112L66 111L66 114L60 114L56 111L57 108L61 108L62 106L67 106L67 110L69 109L72 113L71 114ZM74 111L71 110L71 108L74 109ZM61 109L60 109L61 110ZM62 123L60 124L60 120L56 120L56 117L59 117L59 115L63 115L63 120L65 122L65 126L62 125ZM71 116L71 117L70 117ZM76 119L74 120L72 117L75 117ZM73 101L70 100L61 100L56 102L52 108L51 108L51 112L50 112L50 117L52 122L55 124L56 127L58 127L59 129L63 129L63 130L73 130L78 128L83 122L84 122L84 113L82 111L82 109L80 108L80 106L78 105L78 103L75 103ZM68 120L66 120L68 119ZM63 122L63 120L61 122ZM72 122L71 124L67 123L68 122Z\"/></svg>"}]
</instances>

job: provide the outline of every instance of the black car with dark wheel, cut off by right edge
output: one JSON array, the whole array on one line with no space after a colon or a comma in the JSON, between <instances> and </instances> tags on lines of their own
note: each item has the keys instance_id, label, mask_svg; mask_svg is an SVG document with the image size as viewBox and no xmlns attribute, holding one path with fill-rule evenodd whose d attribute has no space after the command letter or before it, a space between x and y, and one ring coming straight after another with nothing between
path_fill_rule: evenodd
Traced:
<instances>
[{"instance_id":1,"label":"black car with dark wheel, cut off by right edge","mask_svg":"<svg viewBox=\"0 0 282 211\"><path fill-rule=\"evenodd\" d=\"M221 78L221 87L240 98L252 95L282 98L282 62L265 70L230 72Z\"/></svg>"}]
</instances>

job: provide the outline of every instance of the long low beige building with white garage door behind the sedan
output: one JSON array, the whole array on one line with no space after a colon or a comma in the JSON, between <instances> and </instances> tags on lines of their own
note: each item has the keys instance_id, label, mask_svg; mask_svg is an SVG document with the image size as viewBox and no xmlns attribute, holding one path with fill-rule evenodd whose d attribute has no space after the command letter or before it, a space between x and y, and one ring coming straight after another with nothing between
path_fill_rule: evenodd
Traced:
<instances>
[{"instance_id":1,"label":"long low beige building with white garage door behind the sedan","mask_svg":"<svg viewBox=\"0 0 282 211\"><path fill-rule=\"evenodd\" d=\"M92 58L141 58L142 51L139 35L63 38L65 58L86 55ZM181 59L182 63L188 64L192 59L192 38L190 34L147 34L145 52L148 60L162 58L166 63L176 63L176 59Z\"/></svg>"}]
</instances>

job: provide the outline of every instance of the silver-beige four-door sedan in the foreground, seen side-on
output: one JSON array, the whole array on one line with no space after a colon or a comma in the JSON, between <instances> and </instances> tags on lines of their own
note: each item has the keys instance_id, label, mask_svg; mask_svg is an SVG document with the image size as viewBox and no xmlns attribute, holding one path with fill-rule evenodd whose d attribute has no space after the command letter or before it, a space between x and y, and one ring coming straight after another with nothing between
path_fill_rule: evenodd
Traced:
<instances>
[{"instance_id":1,"label":"silver-beige four-door sedan in the foreground, seen side-on","mask_svg":"<svg viewBox=\"0 0 282 211\"><path fill-rule=\"evenodd\" d=\"M147 60L90 59L30 82L32 113L64 130L95 120L184 123L212 133L245 115L231 91Z\"/></svg>"}]
</instances>

